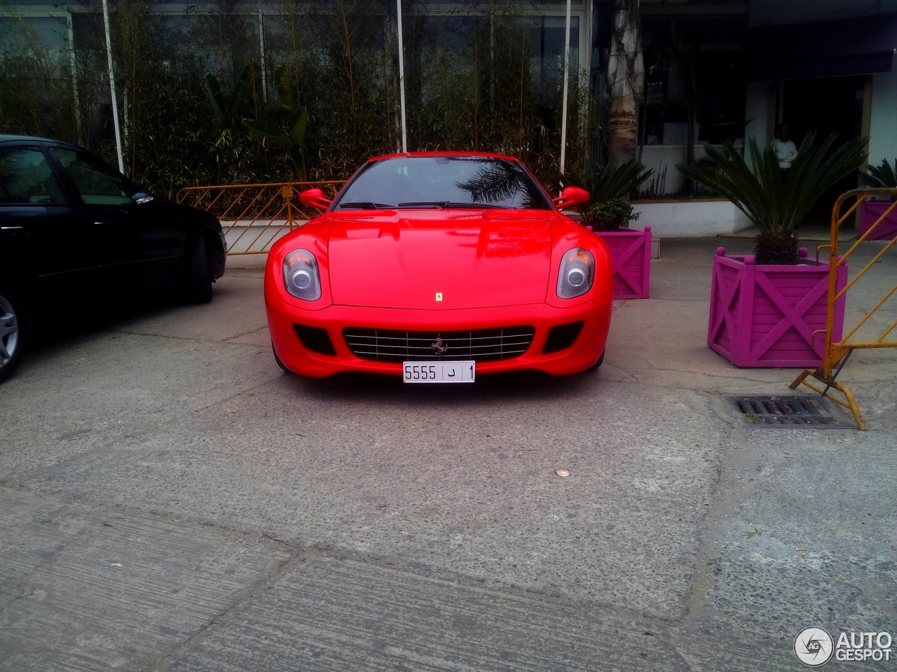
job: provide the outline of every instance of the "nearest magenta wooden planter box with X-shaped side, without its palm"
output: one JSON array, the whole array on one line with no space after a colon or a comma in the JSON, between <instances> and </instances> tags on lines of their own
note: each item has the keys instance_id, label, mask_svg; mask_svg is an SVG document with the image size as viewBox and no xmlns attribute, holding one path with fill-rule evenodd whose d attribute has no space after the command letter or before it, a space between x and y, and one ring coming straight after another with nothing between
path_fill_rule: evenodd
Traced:
<instances>
[{"instance_id":1,"label":"nearest magenta wooden planter box with X-shaped side, without its palm","mask_svg":"<svg viewBox=\"0 0 897 672\"><path fill-rule=\"evenodd\" d=\"M753 256L726 254L713 261L707 344L736 366L801 366L823 360L829 265L806 259L797 266L757 266ZM838 289L847 266L838 269ZM844 328L844 297L835 304L834 338Z\"/></svg>"}]
</instances>

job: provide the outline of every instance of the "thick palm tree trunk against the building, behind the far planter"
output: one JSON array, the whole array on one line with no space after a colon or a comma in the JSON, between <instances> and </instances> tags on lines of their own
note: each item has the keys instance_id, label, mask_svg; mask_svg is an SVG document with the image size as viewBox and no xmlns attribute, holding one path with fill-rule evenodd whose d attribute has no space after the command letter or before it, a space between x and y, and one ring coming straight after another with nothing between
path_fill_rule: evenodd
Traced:
<instances>
[{"instance_id":1,"label":"thick palm tree trunk against the building, behind the far planter","mask_svg":"<svg viewBox=\"0 0 897 672\"><path fill-rule=\"evenodd\" d=\"M640 0L614 0L614 34L607 61L607 156L621 164L635 158L638 99L644 89Z\"/></svg>"}]
</instances>

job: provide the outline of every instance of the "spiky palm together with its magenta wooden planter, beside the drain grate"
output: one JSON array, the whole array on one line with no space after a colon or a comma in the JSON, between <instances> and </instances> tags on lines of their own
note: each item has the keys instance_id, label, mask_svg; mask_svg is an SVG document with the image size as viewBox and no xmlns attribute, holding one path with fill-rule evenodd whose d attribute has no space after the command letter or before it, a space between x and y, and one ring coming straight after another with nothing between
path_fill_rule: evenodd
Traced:
<instances>
[{"instance_id":1,"label":"spiky palm together with its magenta wooden planter, beside the drain grate","mask_svg":"<svg viewBox=\"0 0 897 672\"><path fill-rule=\"evenodd\" d=\"M726 254L713 262L707 344L736 366L818 366L828 297L828 263L797 249L794 230L823 192L862 165L865 138L832 150L808 134L789 171L779 169L772 147L751 142L753 170L732 143L708 148L706 166L679 166L683 175L727 196L760 228L756 255ZM828 158L826 158L828 157ZM835 279L847 284L847 266ZM844 297L835 303L832 334L840 340Z\"/></svg>"}]
</instances>

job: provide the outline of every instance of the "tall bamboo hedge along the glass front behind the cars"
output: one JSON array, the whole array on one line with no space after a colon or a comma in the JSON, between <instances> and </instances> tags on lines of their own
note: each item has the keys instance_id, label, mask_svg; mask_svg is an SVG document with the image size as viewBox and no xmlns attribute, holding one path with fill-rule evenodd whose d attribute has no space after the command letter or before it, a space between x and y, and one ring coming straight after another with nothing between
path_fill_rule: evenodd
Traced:
<instances>
[{"instance_id":1,"label":"tall bamboo hedge along the glass front behind the cars","mask_svg":"<svg viewBox=\"0 0 897 672\"><path fill-rule=\"evenodd\" d=\"M388 28L395 0L274 4L261 34L257 16L235 12L233 0L190 5L176 22L162 20L147 0L115 4L127 169L158 198L185 185L344 179L370 156L396 151L398 52ZM552 181L562 72L547 53L534 67L539 14L534 0L462 0L452 15L405 16L409 149L513 154ZM99 12L81 18L74 54L43 44L33 30L0 30L0 130L81 142L115 163L104 26ZM634 34L626 35L624 50ZM622 56L638 60L636 52ZM591 152L598 124L579 85L588 73L575 51L570 58L566 163L573 169ZM285 70L275 72L276 64ZM292 111L267 102L284 75Z\"/></svg>"}]
</instances>

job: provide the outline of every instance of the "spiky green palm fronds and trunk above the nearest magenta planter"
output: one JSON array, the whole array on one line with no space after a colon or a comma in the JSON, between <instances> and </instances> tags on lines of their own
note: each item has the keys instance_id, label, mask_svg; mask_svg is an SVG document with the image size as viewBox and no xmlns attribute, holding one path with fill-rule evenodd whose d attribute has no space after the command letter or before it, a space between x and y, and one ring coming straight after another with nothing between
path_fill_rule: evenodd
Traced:
<instances>
[{"instance_id":1,"label":"spiky green palm fronds and trunk above the nearest magenta planter","mask_svg":"<svg viewBox=\"0 0 897 672\"><path fill-rule=\"evenodd\" d=\"M826 189L857 170L866 160L867 138L854 138L831 153L835 134L822 144L814 133L806 134L791 168L779 168L772 144L762 150L751 139L753 169L732 142L722 150L707 148L701 166L678 164L683 177L692 179L725 196L747 215L760 234L756 263L796 264L797 237L794 230Z\"/></svg>"}]
</instances>

